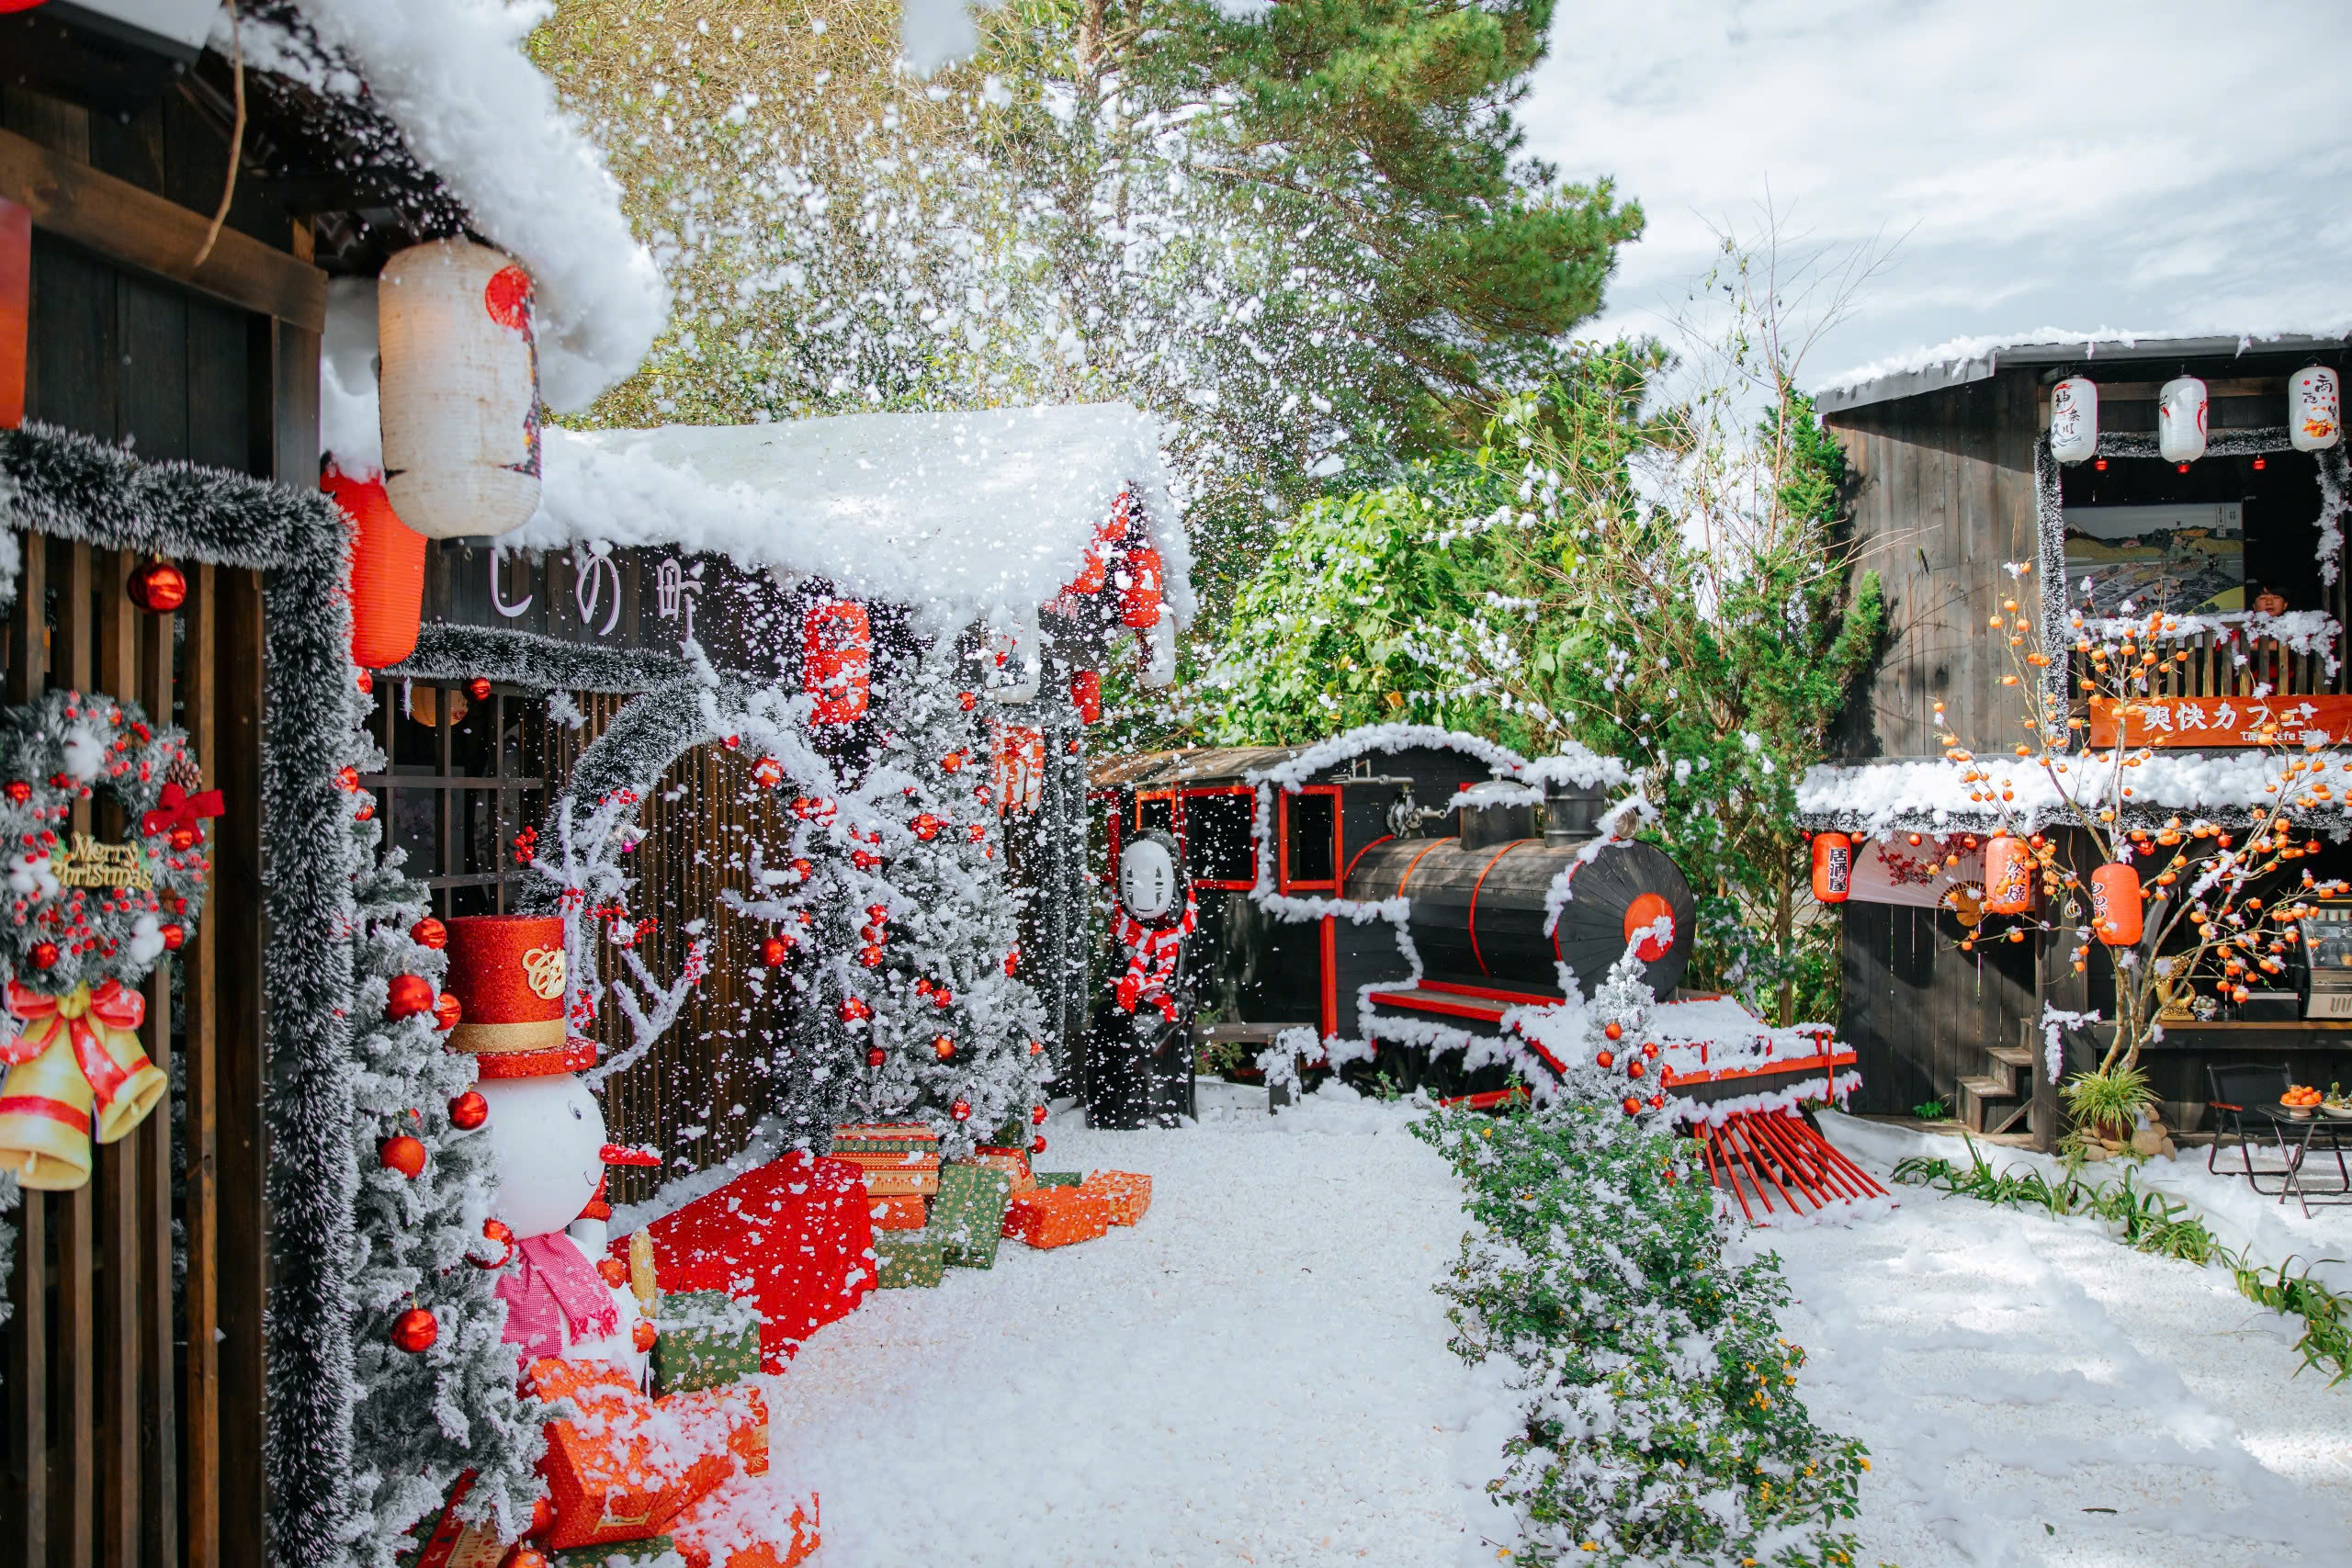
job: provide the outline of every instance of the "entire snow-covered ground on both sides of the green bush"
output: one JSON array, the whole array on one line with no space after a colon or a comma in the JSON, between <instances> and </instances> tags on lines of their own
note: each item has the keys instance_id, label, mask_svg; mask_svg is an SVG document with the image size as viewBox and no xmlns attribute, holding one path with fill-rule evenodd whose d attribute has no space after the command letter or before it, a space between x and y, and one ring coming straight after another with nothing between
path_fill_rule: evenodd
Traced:
<instances>
[{"instance_id":1,"label":"entire snow-covered ground on both sides of the green bush","mask_svg":"<svg viewBox=\"0 0 2352 1568\"><path fill-rule=\"evenodd\" d=\"M875 1293L767 1380L774 1476L823 1497L816 1568L1496 1563L1508 1394L1446 1352L1430 1288L1461 1185L1406 1107L1343 1093L1049 1121L1040 1166L1148 1171L1150 1213ZM1882 1180L1966 1157L1825 1121ZM2150 1171L2232 1241L2352 1255L2352 1211L2279 1220L2190 1166ZM2352 1563L2352 1382L2298 1375L2288 1319L2093 1220L1893 1194L1745 1241L1783 1258L1813 1418L1870 1448L1860 1568Z\"/></svg>"}]
</instances>

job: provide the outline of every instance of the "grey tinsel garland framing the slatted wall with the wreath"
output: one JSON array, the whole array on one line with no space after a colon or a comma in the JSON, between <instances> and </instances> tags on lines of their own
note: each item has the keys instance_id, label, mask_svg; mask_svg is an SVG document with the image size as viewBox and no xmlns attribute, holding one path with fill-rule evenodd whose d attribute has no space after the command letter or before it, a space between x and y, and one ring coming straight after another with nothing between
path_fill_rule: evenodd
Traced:
<instances>
[{"instance_id":1,"label":"grey tinsel garland framing the slatted wall with the wreath","mask_svg":"<svg viewBox=\"0 0 2352 1568\"><path fill-rule=\"evenodd\" d=\"M350 1020L353 879L369 867L350 835L353 795L336 785L367 750L343 595L348 524L315 489L141 463L42 423L0 433L0 527L261 574L270 1286L259 1436L270 1561L341 1566L367 1528L350 1474L360 1399Z\"/></svg>"}]
</instances>

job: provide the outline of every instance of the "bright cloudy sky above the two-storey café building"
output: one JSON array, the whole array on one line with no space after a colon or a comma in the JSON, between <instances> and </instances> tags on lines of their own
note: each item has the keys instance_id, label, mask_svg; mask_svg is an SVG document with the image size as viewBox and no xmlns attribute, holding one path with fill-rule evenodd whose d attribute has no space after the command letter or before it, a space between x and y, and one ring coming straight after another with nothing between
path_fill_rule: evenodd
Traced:
<instances>
[{"instance_id":1,"label":"bright cloudy sky above the two-storey caf\u00e9 building","mask_svg":"<svg viewBox=\"0 0 2352 1568\"><path fill-rule=\"evenodd\" d=\"M1717 233L1891 244L1818 383L2039 327L2352 327L2352 0L1562 5L1529 153L1649 230L1602 322L1686 313Z\"/></svg>"}]
</instances>

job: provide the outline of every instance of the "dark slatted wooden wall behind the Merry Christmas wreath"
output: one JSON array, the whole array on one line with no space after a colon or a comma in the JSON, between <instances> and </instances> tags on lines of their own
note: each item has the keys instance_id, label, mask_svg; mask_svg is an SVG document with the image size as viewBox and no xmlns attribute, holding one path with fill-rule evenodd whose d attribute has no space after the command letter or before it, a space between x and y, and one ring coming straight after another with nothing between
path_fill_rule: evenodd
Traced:
<instances>
[{"instance_id":1,"label":"dark slatted wooden wall behind the Merry Christmas wreath","mask_svg":"<svg viewBox=\"0 0 2352 1568\"><path fill-rule=\"evenodd\" d=\"M28 418L141 458L315 482L325 282L299 266L308 230L240 181L228 226L249 240L228 242L195 289L167 275L193 270L191 230L200 240L221 195L219 129L172 94L120 122L19 87L0 87L0 172L38 186L0 190L35 214ZM289 282L301 303L285 317L242 308L287 299ZM148 997L172 1110L99 1150L89 1187L28 1194L16 1215L0 1563L259 1563L261 583L191 564L188 604L155 618L122 592L136 559L24 545L7 701L66 684L134 696L191 731L228 816L179 997L162 980Z\"/></svg>"}]
</instances>

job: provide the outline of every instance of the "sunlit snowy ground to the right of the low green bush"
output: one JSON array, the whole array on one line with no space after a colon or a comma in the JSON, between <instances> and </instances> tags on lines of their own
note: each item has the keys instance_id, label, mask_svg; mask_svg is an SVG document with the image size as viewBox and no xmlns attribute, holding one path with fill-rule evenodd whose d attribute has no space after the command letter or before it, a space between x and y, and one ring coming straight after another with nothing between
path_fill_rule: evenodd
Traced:
<instances>
[{"instance_id":1,"label":"sunlit snowy ground to the right of the low green bush","mask_svg":"<svg viewBox=\"0 0 2352 1568\"><path fill-rule=\"evenodd\" d=\"M1853 1124L1823 1121L1886 1178L1884 1152L1842 1135ZM1738 1239L1780 1255L1813 1420L1870 1448L1856 1561L2345 1561L2352 1394L2298 1375L2298 1319L2098 1220L1893 1194L1851 1227Z\"/></svg>"}]
</instances>

